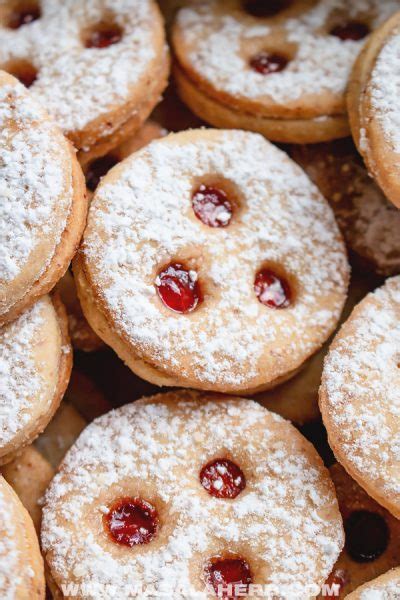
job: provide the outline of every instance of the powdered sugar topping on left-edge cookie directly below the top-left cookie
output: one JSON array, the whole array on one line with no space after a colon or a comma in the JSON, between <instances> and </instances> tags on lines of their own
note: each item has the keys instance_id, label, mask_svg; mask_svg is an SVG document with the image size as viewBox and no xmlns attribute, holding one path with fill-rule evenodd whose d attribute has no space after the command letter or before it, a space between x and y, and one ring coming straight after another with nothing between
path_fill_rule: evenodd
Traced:
<instances>
[{"instance_id":1,"label":"powdered sugar topping on left-edge cookie directly below the top-left cookie","mask_svg":"<svg viewBox=\"0 0 400 600\"><path fill-rule=\"evenodd\" d=\"M0 88L0 295L43 239L40 276L60 241L72 202L68 151L20 84ZM67 163L68 164L68 163Z\"/></svg>"}]
</instances>

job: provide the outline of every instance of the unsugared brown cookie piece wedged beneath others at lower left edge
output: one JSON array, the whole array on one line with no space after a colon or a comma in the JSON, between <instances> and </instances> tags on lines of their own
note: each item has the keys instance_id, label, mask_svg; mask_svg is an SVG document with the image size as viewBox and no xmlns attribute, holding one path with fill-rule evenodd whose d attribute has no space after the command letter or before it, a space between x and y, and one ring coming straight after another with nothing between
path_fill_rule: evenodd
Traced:
<instances>
[{"instance_id":1,"label":"unsugared brown cookie piece wedged beneath others at lower left edge","mask_svg":"<svg viewBox=\"0 0 400 600\"><path fill-rule=\"evenodd\" d=\"M50 463L33 446L27 446L1 468L1 474L25 506L39 534L42 521L40 502L54 476Z\"/></svg>"}]
</instances>

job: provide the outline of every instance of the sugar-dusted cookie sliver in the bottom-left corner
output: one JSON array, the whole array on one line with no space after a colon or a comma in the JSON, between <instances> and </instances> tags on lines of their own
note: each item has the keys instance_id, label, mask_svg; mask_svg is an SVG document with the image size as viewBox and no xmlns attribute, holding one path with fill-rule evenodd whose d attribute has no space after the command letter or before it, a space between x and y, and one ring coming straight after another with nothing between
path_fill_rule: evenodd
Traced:
<instances>
[{"instance_id":1,"label":"sugar-dusted cookie sliver in the bottom-left corner","mask_svg":"<svg viewBox=\"0 0 400 600\"><path fill-rule=\"evenodd\" d=\"M44 600L43 559L32 519L0 476L0 595Z\"/></svg>"}]
</instances>

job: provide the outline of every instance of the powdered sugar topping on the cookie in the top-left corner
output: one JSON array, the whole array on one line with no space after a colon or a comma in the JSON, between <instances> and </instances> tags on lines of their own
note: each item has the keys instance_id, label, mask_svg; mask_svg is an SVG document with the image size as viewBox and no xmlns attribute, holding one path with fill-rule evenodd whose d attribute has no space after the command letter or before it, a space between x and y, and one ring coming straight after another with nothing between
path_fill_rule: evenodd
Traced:
<instances>
[{"instance_id":1,"label":"powdered sugar topping on the cookie in the top-left corner","mask_svg":"<svg viewBox=\"0 0 400 600\"><path fill-rule=\"evenodd\" d=\"M29 26L0 28L0 64L34 65L31 92L62 129L81 130L130 101L156 55L152 2L42 0L40 7L41 17ZM85 31L100 22L120 26L122 39L108 48L85 48Z\"/></svg>"}]
</instances>

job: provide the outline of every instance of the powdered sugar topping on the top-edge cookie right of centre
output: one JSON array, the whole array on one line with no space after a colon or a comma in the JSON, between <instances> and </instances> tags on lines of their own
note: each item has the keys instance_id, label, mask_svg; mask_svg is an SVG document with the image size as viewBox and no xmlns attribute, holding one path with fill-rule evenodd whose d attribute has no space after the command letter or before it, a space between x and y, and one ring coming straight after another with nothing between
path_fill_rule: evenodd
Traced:
<instances>
[{"instance_id":1,"label":"powdered sugar topping on the top-edge cookie right of centre","mask_svg":"<svg viewBox=\"0 0 400 600\"><path fill-rule=\"evenodd\" d=\"M398 8L396 0L320 0L276 21L251 19L240 8L224 11L222 2L206 0L182 9L177 23L190 49L185 62L216 89L285 105L304 96L344 94L363 40L343 41L329 35L330 26L363 22L368 15L375 29ZM284 71L264 76L248 65L249 52L256 48L289 52L290 62Z\"/></svg>"}]
</instances>

